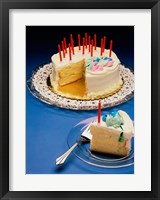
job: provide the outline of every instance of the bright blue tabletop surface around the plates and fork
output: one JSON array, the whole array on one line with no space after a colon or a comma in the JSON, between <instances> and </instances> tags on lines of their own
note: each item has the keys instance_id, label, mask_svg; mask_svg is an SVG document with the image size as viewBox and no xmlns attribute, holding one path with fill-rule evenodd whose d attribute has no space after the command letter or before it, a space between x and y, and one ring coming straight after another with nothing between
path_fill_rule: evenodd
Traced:
<instances>
[{"instance_id":1,"label":"bright blue tabletop surface around the plates and fork","mask_svg":"<svg viewBox=\"0 0 160 200\"><path fill-rule=\"evenodd\" d=\"M27 174L94 174L98 167L91 166L70 155L62 167L55 160L67 149L67 136L78 122L97 115L97 111L74 111L47 105L26 90L26 173ZM116 106L134 119L134 99ZM110 109L103 109L102 114ZM134 166L105 169L106 174L134 173Z\"/></svg>"}]
</instances>

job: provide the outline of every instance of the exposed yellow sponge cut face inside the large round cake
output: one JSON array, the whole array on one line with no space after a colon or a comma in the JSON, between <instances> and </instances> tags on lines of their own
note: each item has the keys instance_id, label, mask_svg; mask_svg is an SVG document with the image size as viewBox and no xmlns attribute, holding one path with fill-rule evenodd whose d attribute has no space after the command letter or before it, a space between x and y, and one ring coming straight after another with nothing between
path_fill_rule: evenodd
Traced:
<instances>
[{"instance_id":1,"label":"exposed yellow sponge cut face inside the large round cake","mask_svg":"<svg viewBox=\"0 0 160 200\"><path fill-rule=\"evenodd\" d=\"M64 86L74 81L77 81L84 76L85 60L82 59L76 63L71 63L70 65L58 69L59 86Z\"/></svg>"}]
</instances>

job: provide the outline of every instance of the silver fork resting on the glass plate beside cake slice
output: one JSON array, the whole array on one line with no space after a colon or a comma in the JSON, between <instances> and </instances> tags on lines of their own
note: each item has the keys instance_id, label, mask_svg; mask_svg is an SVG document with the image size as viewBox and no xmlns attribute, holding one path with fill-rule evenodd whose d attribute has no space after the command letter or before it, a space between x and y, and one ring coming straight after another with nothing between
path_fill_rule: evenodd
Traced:
<instances>
[{"instance_id":1,"label":"silver fork resting on the glass plate beside cake slice","mask_svg":"<svg viewBox=\"0 0 160 200\"><path fill-rule=\"evenodd\" d=\"M93 121L91 122L93 123ZM56 159L56 165L62 165L66 159L68 158L68 156L70 155L70 153L75 149L75 147L81 143L81 142L89 142L92 139L92 135L89 131L90 125L91 123L87 126L87 128L83 131L83 133L81 134L80 139L73 145L71 146L68 151L66 151L63 155L61 155L60 157L58 157Z\"/></svg>"}]
</instances>

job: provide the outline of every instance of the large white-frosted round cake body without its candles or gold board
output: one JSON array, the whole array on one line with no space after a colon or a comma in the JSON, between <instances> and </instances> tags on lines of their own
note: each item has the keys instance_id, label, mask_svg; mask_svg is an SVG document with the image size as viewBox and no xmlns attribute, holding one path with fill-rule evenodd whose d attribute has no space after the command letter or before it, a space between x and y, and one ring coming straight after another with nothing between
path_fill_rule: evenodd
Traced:
<instances>
[{"instance_id":1,"label":"large white-frosted round cake body without its candles or gold board","mask_svg":"<svg viewBox=\"0 0 160 200\"><path fill-rule=\"evenodd\" d=\"M109 50L104 49L101 56L100 51L101 48L97 47L91 57L88 49L85 49L85 53L82 54L79 47L74 47L72 60L69 59L69 54L66 54L62 61L59 59L59 53L54 54L51 58L53 71L50 80L55 92L64 95L60 88L82 78L85 84L84 95L90 99L119 90L123 84L120 76L120 61L113 51L111 57L109 57Z\"/></svg>"}]
</instances>

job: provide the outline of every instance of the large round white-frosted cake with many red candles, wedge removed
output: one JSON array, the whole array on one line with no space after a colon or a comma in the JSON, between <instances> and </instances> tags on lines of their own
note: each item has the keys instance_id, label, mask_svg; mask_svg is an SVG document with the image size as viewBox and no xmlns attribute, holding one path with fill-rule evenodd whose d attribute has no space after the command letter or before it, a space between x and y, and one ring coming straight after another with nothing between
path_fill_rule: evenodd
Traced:
<instances>
[{"instance_id":1,"label":"large round white-frosted cake with many red candles, wedge removed","mask_svg":"<svg viewBox=\"0 0 160 200\"><path fill-rule=\"evenodd\" d=\"M79 37L78 37L79 38ZM53 71L50 75L52 90L72 99L98 99L114 94L123 85L120 76L120 61L110 49L105 49L105 37L101 47L96 46L96 37L83 45L74 47L71 36L68 48L66 40L58 45L59 52L51 58Z\"/></svg>"}]
</instances>

